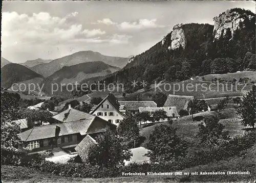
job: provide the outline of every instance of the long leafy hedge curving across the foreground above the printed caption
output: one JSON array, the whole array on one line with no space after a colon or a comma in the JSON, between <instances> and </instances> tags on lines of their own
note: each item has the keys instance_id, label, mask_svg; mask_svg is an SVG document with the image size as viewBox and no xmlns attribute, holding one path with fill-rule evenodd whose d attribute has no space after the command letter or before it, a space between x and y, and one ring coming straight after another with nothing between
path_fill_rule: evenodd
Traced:
<instances>
[{"instance_id":1,"label":"long leafy hedge curving across the foreground above the printed caption","mask_svg":"<svg viewBox=\"0 0 256 183\"><path fill-rule=\"evenodd\" d=\"M127 166L104 168L100 166L92 166L90 164L81 163L67 163L67 164L55 164L53 162L46 161L39 154L33 156L27 156L23 159L29 161L23 161L22 166L38 169L42 172L54 173L60 176L69 177L117 177L121 176L122 172L169 172L182 170L185 168L204 165L210 162L220 161L229 158L233 155L239 155L241 151L252 147L255 144L256 133L249 133L244 136L235 137L228 142L224 142L222 145L212 147L206 150L198 150L188 153L183 158L174 159L171 162L163 163L132 163ZM3 164L9 163L10 159L6 160ZM8 160L8 161L7 161Z\"/></svg>"}]
</instances>

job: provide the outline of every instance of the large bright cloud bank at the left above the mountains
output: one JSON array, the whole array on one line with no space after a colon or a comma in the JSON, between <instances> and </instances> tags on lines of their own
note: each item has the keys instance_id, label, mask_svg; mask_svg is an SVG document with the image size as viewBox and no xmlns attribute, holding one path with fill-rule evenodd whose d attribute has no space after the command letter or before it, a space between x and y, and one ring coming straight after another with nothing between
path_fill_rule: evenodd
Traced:
<instances>
[{"instance_id":1,"label":"large bright cloud bank at the left above the mountains","mask_svg":"<svg viewBox=\"0 0 256 183\"><path fill-rule=\"evenodd\" d=\"M46 12L33 13L30 16L16 12L3 12L2 46L31 42L59 44L67 43L72 39L92 38L106 33L100 29L83 29L81 24L68 20L77 14L72 12L65 17L55 17Z\"/></svg>"}]
</instances>

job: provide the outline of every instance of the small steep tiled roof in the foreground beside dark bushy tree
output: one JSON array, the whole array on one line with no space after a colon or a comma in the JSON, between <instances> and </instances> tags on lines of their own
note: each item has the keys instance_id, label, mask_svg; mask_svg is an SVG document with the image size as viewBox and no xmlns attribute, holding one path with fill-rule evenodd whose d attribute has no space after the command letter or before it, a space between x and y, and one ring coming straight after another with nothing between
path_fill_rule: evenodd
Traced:
<instances>
[{"instance_id":1,"label":"small steep tiled roof in the foreground beside dark bushy tree","mask_svg":"<svg viewBox=\"0 0 256 183\"><path fill-rule=\"evenodd\" d=\"M82 159L82 161L87 161L87 157L89 154L90 146L97 144L97 142L90 136L87 135L83 138L83 140L75 147L78 155Z\"/></svg>"}]
</instances>

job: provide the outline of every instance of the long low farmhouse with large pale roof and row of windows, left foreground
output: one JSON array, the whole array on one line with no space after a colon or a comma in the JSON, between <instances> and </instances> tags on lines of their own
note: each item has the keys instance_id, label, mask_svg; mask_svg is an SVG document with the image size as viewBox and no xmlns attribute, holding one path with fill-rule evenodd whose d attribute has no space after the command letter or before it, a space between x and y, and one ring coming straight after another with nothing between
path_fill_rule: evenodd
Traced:
<instances>
[{"instance_id":1,"label":"long low farmhouse with large pale roof and row of windows, left foreground","mask_svg":"<svg viewBox=\"0 0 256 183\"><path fill-rule=\"evenodd\" d=\"M77 110L71 108L70 111L74 112ZM71 116L68 117L69 115L66 115L68 119L66 121L66 119L63 120L61 118L66 113L57 114L58 116L55 115L55 119L62 119L62 123L36 126L18 134L23 141L23 144L18 149L20 151L26 151L25 148L27 148L30 149L30 152L37 152L49 149L73 148L87 135L95 138L99 133L104 132L107 126L115 128L115 125L102 118L87 113L82 115L81 113L77 113L78 118L87 118L70 121L72 118L78 118L74 117L76 116L74 113L69 113Z\"/></svg>"}]
</instances>

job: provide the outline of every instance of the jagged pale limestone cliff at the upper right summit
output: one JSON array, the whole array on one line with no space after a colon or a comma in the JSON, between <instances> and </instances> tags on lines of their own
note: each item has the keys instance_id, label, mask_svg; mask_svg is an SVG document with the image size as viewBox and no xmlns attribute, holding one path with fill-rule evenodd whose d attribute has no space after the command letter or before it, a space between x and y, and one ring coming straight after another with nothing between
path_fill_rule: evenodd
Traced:
<instances>
[{"instance_id":1,"label":"jagged pale limestone cliff at the upper right summit","mask_svg":"<svg viewBox=\"0 0 256 183\"><path fill-rule=\"evenodd\" d=\"M240 28L240 24L244 26L243 22L245 20L245 14L238 13L236 11L227 10L219 16L214 17L214 37L219 39L221 33L224 30L224 35L227 32L227 29L230 29L231 34L233 35L234 31ZM248 15L249 20L252 18L251 15ZM241 23L240 23L241 22Z\"/></svg>"}]
</instances>

